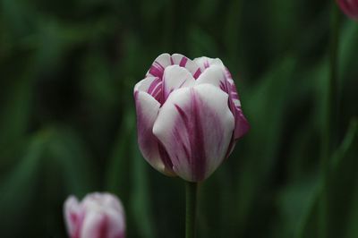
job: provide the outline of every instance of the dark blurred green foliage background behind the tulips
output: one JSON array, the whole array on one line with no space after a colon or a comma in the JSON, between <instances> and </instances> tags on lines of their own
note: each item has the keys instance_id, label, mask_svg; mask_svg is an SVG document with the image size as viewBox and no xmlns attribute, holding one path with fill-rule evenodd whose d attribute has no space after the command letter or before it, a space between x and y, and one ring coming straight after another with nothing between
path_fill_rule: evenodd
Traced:
<instances>
[{"instance_id":1,"label":"dark blurred green foliage background behind the tulips","mask_svg":"<svg viewBox=\"0 0 358 238\"><path fill-rule=\"evenodd\" d=\"M251 131L200 185L199 237L318 237L330 1L1 0L1 237L66 237L69 194L111 191L129 238L182 238L184 184L136 143L161 53L220 57ZM358 237L358 23L340 15L328 236Z\"/></svg>"}]
</instances>

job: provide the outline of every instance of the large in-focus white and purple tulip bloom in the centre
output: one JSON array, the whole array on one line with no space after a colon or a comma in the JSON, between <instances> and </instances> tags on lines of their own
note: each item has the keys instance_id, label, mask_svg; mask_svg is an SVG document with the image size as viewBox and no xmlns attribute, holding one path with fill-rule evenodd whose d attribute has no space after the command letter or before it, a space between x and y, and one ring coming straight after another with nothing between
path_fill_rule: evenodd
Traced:
<instances>
[{"instance_id":1,"label":"large in-focus white and purple tulip bloom in the centre","mask_svg":"<svg viewBox=\"0 0 358 238\"><path fill-rule=\"evenodd\" d=\"M134 87L143 157L166 175L200 182L249 130L234 81L219 59L159 55Z\"/></svg>"}]
</instances>

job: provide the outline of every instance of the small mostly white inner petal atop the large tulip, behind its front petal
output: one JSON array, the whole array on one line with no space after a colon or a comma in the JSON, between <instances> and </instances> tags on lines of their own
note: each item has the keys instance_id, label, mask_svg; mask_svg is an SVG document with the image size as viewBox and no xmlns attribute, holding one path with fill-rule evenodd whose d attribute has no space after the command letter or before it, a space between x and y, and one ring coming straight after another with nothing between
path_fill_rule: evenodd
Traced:
<instances>
[{"instance_id":1,"label":"small mostly white inner petal atop the large tulip, behind its front petal","mask_svg":"<svg viewBox=\"0 0 358 238\"><path fill-rule=\"evenodd\" d=\"M185 68L178 65L166 67L163 76L163 97L164 101L175 89L190 87L195 84L192 74Z\"/></svg>"}]
</instances>

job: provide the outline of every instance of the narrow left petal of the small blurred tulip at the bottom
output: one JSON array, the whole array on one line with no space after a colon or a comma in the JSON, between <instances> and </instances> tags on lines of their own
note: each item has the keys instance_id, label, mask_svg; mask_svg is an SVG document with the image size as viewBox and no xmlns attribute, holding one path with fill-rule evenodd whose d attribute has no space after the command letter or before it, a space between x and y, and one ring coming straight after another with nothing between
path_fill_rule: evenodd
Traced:
<instances>
[{"instance_id":1,"label":"narrow left petal of the small blurred tulip at the bottom","mask_svg":"<svg viewBox=\"0 0 358 238\"><path fill-rule=\"evenodd\" d=\"M83 215L79 201L70 196L64 202L64 220L71 238L80 238Z\"/></svg>"}]
</instances>

